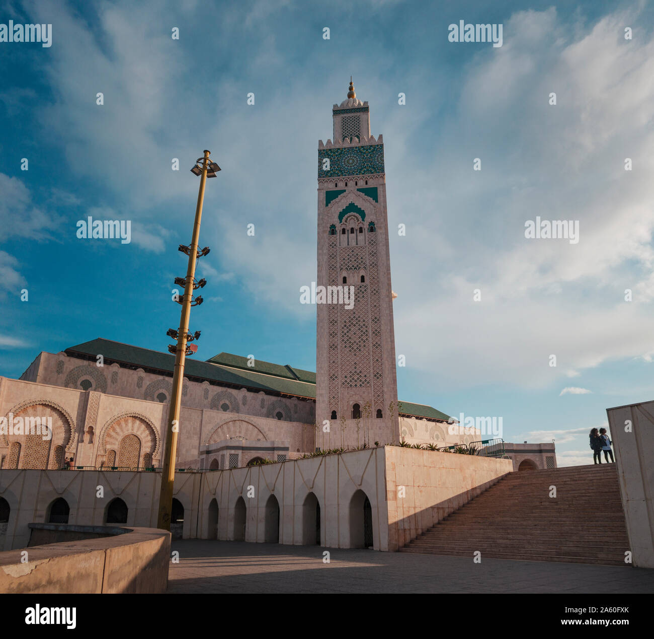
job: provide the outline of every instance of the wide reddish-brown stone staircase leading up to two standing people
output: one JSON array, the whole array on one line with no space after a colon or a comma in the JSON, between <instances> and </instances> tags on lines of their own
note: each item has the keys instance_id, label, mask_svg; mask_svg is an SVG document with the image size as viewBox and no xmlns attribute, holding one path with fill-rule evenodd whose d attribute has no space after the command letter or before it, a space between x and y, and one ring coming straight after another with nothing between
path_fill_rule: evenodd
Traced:
<instances>
[{"instance_id":1,"label":"wide reddish-brown stone staircase leading up to two standing people","mask_svg":"<svg viewBox=\"0 0 654 639\"><path fill-rule=\"evenodd\" d=\"M625 566L628 549L615 464L593 464L509 473L400 552Z\"/></svg>"}]
</instances>

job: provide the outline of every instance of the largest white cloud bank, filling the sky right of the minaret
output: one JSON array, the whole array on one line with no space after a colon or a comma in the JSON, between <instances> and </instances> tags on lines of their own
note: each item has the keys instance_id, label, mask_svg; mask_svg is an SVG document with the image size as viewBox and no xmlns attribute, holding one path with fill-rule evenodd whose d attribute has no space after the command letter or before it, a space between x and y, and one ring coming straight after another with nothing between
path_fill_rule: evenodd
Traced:
<instances>
[{"instance_id":1,"label":"largest white cloud bank, filling the sky right of the minaret","mask_svg":"<svg viewBox=\"0 0 654 639\"><path fill-rule=\"evenodd\" d=\"M633 20L615 12L584 32L554 9L515 14L512 37L460 79L435 161L406 142L388 161L390 227L407 224L390 236L397 350L425 371L446 362L441 390L543 387L651 351L654 39L621 40ZM388 155L402 133L384 133ZM579 220L579 243L527 240L536 215Z\"/></svg>"}]
</instances>

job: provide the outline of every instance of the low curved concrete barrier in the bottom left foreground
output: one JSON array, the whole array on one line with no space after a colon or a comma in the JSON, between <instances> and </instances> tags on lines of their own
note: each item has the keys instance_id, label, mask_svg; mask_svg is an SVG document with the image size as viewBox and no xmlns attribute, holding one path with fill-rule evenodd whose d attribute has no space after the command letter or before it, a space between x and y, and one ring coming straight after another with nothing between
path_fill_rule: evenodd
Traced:
<instances>
[{"instance_id":1,"label":"low curved concrete barrier in the bottom left foreground","mask_svg":"<svg viewBox=\"0 0 654 639\"><path fill-rule=\"evenodd\" d=\"M30 527L42 537L86 534L95 538L0 553L0 593L163 593L167 588L170 533L166 530L67 524Z\"/></svg>"}]
</instances>

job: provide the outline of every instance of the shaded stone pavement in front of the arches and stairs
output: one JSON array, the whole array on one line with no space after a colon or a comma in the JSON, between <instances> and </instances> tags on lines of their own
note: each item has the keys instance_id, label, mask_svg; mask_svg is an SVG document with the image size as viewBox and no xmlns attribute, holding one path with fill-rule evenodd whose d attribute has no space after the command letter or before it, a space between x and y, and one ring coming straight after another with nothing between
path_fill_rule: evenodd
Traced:
<instances>
[{"instance_id":1,"label":"shaded stone pavement in front of the arches and stairs","mask_svg":"<svg viewBox=\"0 0 654 639\"><path fill-rule=\"evenodd\" d=\"M169 593L654 593L654 570L183 539ZM329 564L322 553L329 551Z\"/></svg>"}]
</instances>

